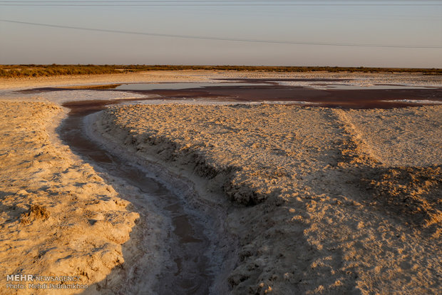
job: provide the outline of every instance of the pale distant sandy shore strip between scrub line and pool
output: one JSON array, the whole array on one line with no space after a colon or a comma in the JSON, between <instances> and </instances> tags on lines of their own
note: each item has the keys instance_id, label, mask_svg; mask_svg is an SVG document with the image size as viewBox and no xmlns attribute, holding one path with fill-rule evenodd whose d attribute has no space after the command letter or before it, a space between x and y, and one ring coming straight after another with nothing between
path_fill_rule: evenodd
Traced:
<instances>
[{"instance_id":1,"label":"pale distant sandy shore strip between scrub line and pool","mask_svg":"<svg viewBox=\"0 0 442 295\"><path fill-rule=\"evenodd\" d=\"M1 68L1 66L0 66ZM120 83L198 82L210 83L217 79L245 78L338 78L353 79L354 83L394 83L411 86L440 86L442 75L422 73L329 73L329 72L264 72L264 71L137 71L133 73L83 74L1 78L0 90L53 86L103 86Z\"/></svg>"}]
</instances>

